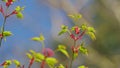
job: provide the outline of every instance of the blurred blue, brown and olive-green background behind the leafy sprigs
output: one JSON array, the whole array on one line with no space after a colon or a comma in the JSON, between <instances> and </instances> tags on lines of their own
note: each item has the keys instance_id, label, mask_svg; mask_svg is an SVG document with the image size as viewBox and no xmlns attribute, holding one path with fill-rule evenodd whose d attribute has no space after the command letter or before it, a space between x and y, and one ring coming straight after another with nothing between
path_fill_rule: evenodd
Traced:
<instances>
[{"instance_id":1,"label":"blurred blue, brown and olive-green background behind the leafy sprigs","mask_svg":"<svg viewBox=\"0 0 120 68\"><path fill-rule=\"evenodd\" d=\"M4 5L2 1L0 4ZM71 46L72 41L67 35L58 36L60 26L69 27L87 23L96 29L96 40L85 37L85 46L89 55L80 55L74 61L73 68L86 65L89 68L120 68L120 1L119 0L20 0L15 6L25 6L24 19L15 16L7 19L5 30L13 33L0 47L0 63L8 59L18 59L25 68L28 65L26 52L33 49L41 50L41 43L31 40L42 33L45 36L45 45L55 49L58 44ZM82 14L82 18L73 22L69 14ZM0 26L3 17L0 14ZM81 41L80 41L81 42ZM61 53L55 57L64 64L68 59ZM10 68L15 68L11 66ZM33 68L39 68L34 64Z\"/></svg>"}]
</instances>

